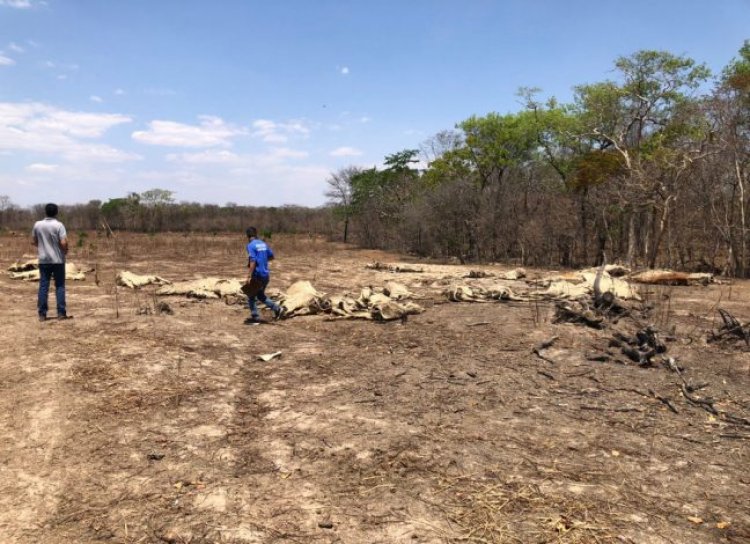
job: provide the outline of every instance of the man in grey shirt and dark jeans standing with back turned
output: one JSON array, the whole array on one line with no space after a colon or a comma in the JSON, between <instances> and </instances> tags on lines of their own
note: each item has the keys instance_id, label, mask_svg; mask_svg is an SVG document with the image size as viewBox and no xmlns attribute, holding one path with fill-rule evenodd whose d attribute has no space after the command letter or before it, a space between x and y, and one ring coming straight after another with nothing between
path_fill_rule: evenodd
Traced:
<instances>
[{"instance_id":1,"label":"man in grey shirt and dark jeans standing with back turned","mask_svg":"<svg viewBox=\"0 0 750 544\"><path fill-rule=\"evenodd\" d=\"M34 223L31 231L32 243L39 253L39 298L37 309L39 321L47 320L47 299L50 279L55 279L57 318L68 319L65 309L65 255L68 253L68 233L65 225L57 220L56 204L47 204L47 217Z\"/></svg>"}]
</instances>

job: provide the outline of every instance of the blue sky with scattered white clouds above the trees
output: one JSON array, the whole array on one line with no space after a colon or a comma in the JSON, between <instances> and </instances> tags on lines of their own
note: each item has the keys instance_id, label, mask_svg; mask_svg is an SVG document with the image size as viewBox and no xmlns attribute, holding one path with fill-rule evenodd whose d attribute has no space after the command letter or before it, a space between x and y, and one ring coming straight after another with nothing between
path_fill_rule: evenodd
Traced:
<instances>
[{"instance_id":1,"label":"blue sky with scattered white clouds above the trees","mask_svg":"<svg viewBox=\"0 0 750 544\"><path fill-rule=\"evenodd\" d=\"M639 49L718 72L749 38L750 0L0 0L0 195L317 206L519 87L567 100Z\"/></svg>"}]
</instances>

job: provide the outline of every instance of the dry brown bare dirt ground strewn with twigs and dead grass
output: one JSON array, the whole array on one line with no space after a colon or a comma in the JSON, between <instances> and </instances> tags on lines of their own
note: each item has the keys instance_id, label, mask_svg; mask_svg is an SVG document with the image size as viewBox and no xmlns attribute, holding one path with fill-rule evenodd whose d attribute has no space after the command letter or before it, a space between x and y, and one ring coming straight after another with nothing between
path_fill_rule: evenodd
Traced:
<instances>
[{"instance_id":1,"label":"dry brown bare dirt ground strewn with twigs and dead grass","mask_svg":"<svg viewBox=\"0 0 750 544\"><path fill-rule=\"evenodd\" d=\"M429 287L469 267L393 274L365 264L403 257L271 243L272 286L395 279L426 311L248 327L216 300L144 315L151 290L114 287L124 269L241 277L242 236L92 234L71 260L99 284L69 282L65 322L0 276L0 542L750 542L750 426L687 402L666 368L587 360L607 330ZM0 263L30 249L2 237ZM750 353L705 341L717 307L750 319L750 284L644 293L696 394L750 417ZM549 361L532 353L553 335Z\"/></svg>"}]
</instances>

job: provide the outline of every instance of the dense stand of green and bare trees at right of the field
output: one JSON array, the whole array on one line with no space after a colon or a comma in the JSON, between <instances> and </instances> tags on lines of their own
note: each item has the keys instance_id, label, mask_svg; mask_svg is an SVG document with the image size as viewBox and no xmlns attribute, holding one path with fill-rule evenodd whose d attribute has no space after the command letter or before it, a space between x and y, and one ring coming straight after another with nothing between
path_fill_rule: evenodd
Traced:
<instances>
[{"instance_id":1,"label":"dense stand of green and bare trees at right of the field","mask_svg":"<svg viewBox=\"0 0 750 544\"><path fill-rule=\"evenodd\" d=\"M712 78L665 51L615 61L573 100L519 92L326 193L339 236L465 261L713 270L747 276L750 41Z\"/></svg>"}]
</instances>

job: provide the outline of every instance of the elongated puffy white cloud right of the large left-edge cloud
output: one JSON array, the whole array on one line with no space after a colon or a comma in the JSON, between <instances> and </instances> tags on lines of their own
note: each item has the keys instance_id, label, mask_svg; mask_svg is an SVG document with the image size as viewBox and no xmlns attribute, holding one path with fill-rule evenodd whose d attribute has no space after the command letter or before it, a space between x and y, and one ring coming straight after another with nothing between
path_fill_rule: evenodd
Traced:
<instances>
[{"instance_id":1,"label":"elongated puffy white cloud right of the large left-edge cloud","mask_svg":"<svg viewBox=\"0 0 750 544\"><path fill-rule=\"evenodd\" d=\"M133 132L133 139L149 145L171 147L226 147L232 138L246 134L244 129L225 123L219 117L200 116L200 125L175 121L151 121L148 130Z\"/></svg>"}]
</instances>

